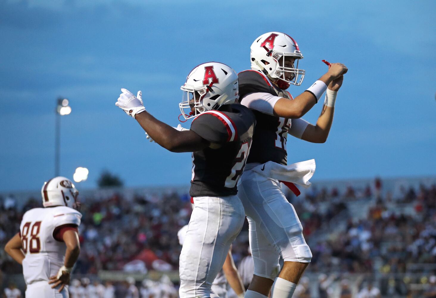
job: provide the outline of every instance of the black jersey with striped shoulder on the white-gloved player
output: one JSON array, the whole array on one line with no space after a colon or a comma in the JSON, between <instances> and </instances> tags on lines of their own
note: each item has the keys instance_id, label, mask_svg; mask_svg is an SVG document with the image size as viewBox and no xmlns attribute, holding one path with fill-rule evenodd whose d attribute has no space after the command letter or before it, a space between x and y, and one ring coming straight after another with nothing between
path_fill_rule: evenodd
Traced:
<instances>
[{"instance_id":1,"label":"black jersey with striped shoulder on the white-gloved player","mask_svg":"<svg viewBox=\"0 0 436 298\"><path fill-rule=\"evenodd\" d=\"M255 123L251 110L240 104L201 113L192 121L192 131L221 147L193 152L191 196L236 195Z\"/></svg>"}]
</instances>

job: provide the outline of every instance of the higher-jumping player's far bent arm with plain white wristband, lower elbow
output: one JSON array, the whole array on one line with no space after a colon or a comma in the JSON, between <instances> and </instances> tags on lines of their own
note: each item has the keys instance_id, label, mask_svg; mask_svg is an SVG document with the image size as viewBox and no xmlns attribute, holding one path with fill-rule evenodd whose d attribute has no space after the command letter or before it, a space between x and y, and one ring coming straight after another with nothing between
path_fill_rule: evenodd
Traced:
<instances>
[{"instance_id":1,"label":"higher-jumping player's far bent arm with plain white wristband, lower elbow","mask_svg":"<svg viewBox=\"0 0 436 298\"><path fill-rule=\"evenodd\" d=\"M336 100L337 91L339 88L341 88L343 80L344 76L341 75L339 78L330 82L326 92L323 110L318 117L317 124L309 124L306 127L306 130L304 130L304 133L301 137L302 140L311 143L324 143L327 140L331 125L333 123L334 103Z\"/></svg>"}]
</instances>

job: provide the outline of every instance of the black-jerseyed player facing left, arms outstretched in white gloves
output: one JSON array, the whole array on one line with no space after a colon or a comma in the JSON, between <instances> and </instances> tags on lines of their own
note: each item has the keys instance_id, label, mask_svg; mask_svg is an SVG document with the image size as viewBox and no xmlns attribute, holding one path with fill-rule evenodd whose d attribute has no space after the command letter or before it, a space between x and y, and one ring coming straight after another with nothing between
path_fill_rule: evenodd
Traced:
<instances>
[{"instance_id":1,"label":"black-jerseyed player facing left, arms outstretched in white gloves","mask_svg":"<svg viewBox=\"0 0 436 298\"><path fill-rule=\"evenodd\" d=\"M211 284L245 219L236 183L250 151L255 116L235 103L238 75L225 64L198 65L181 89L181 116L194 118L190 130L174 129L151 116L141 92L134 96L121 89L116 105L133 116L157 144L173 152L193 152L190 194L194 209L180 255L179 294L217 297Z\"/></svg>"}]
</instances>

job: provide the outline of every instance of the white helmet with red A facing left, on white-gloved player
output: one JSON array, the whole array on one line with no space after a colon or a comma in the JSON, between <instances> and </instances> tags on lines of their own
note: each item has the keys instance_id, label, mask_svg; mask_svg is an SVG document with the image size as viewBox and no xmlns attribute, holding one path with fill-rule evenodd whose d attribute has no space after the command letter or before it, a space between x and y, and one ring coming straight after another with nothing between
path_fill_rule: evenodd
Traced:
<instances>
[{"instance_id":1,"label":"white helmet with red A facing left, on white-gloved player","mask_svg":"<svg viewBox=\"0 0 436 298\"><path fill-rule=\"evenodd\" d=\"M235 103L239 97L238 75L223 63L203 63L189 73L180 89L183 91L179 103L181 116L188 120L224 104Z\"/></svg>"}]
</instances>

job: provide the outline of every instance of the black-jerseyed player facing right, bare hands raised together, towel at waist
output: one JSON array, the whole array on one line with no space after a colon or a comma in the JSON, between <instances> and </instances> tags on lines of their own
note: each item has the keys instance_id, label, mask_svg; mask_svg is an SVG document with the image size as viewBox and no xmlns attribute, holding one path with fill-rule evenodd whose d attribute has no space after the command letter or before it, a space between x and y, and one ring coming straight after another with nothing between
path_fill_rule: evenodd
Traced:
<instances>
[{"instance_id":1,"label":"black-jerseyed player facing right, bare hands raised together, towel at waist","mask_svg":"<svg viewBox=\"0 0 436 298\"><path fill-rule=\"evenodd\" d=\"M327 73L293 99L286 89L290 84L299 86L303 81L305 71L298 66L302 58L293 38L280 32L269 32L256 38L251 46L252 69L238 74L240 103L256 116L252 148L238 182L238 196L249 220L254 260L253 280L245 295L248 298L266 297L271 287L273 298L292 297L312 258L300 220L281 190L279 180L283 179L264 173L280 172L282 177L286 176L283 165L287 164L288 133L309 142L325 142L333 121L336 93L347 68L341 63L330 65ZM301 119L326 89L326 100L317 124ZM306 166L313 175L314 161L298 166ZM289 175L295 175L295 172ZM292 183L287 185L298 192ZM280 256L284 260L281 270Z\"/></svg>"}]
</instances>

